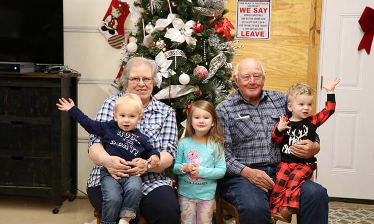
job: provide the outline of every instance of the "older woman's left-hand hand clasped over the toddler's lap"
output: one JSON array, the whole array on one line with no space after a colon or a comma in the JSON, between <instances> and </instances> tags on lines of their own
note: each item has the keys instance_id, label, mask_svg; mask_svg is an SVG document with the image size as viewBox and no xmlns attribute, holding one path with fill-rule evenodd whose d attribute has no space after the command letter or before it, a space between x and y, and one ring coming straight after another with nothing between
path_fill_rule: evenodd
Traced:
<instances>
[{"instance_id":1,"label":"older woman's left-hand hand clasped over the toddler's lap","mask_svg":"<svg viewBox=\"0 0 374 224\"><path fill-rule=\"evenodd\" d=\"M128 177L127 170L131 167L128 166L126 160L118 156L108 156L103 160L103 166L107 168L108 172L116 180L122 177Z\"/></svg>"}]
</instances>

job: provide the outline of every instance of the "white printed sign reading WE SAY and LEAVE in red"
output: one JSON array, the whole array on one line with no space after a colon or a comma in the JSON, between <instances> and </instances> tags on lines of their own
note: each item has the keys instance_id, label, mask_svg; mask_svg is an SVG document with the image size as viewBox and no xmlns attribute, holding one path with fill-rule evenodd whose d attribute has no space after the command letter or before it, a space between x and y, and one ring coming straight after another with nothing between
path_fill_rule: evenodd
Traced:
<instances>
[{"instance_id":1,"label":"white printed sign reading WE SAY and LEAVE in red","mask_svg":"<svg viewBox=\"0 0 374 224\"><path fill-rule=\"evenodd\" d=\"M270 38L270 0L237 0L236 39Z\"/></svg>"}]
</instances>

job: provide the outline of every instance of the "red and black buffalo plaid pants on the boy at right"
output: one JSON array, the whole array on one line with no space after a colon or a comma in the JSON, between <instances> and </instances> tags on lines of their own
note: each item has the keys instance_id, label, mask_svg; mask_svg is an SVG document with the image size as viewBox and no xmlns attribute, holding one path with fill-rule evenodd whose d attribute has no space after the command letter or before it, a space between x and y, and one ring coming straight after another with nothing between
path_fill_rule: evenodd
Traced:
<instances>
[{"instance_id":1,"label":"red and black buffalo plaid pants on the boy at right","mask_svg":"<svg viewBox=\"0 0 374 224\"><path fill-rule=\"evenodd\" d=\"M309 180L316 163L280 162L275 173L275 185L270 196L270 212L276 213L282 207L299 209L300 189L305 180Z\"/></svg>"}]
</instances>

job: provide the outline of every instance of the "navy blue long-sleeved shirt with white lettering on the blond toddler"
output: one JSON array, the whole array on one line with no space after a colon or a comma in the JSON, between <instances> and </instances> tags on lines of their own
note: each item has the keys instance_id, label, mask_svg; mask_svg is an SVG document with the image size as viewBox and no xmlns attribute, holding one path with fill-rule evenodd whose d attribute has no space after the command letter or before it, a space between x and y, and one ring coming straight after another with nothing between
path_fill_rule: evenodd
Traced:
<instances>
[{"instance_id":1,"label":"navy blue long-sleeved shirt with white lettering on the blond toddler","mask_svg":"<svg viewBox=\"0 0 374 224\"><path fill-rule=\"evenodd\" d=\"M109 155L119 156L126 161L136 157L148 159L154 154L160 157L160 152L147 142L149 137L137 129L124 131L118 126L117 121L92 120L75 106L68 112L88 133L101 137L104 149Z\"/></svg>"}]
</instances>

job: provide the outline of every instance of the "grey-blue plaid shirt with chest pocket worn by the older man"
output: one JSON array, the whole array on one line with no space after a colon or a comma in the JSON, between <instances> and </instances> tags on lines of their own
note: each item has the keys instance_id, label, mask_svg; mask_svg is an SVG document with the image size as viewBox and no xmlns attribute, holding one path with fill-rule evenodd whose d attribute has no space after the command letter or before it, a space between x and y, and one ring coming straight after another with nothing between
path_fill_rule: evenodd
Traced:
<instances>
[{"instance_id":1,"label":"grey-blue plaid shirt with chest pocket worn by the older man","mask_svg":"<svg viewBox=\"0 0 374 224\"><path fill-rule=\"evenodd\" d=\"M217 106L229 174L240 175L245 166L278 165L280 150L271 138L271 131L281 113L286 114L286 108L287 98L283 93L267 90L261 92L257 107L245 101L239 90ZM319 142L318 136L316 141Z\"/></svg>"}]
</instances>

